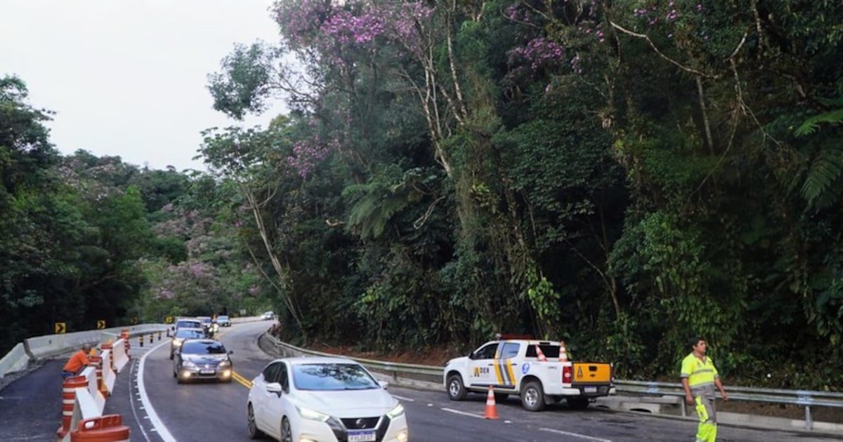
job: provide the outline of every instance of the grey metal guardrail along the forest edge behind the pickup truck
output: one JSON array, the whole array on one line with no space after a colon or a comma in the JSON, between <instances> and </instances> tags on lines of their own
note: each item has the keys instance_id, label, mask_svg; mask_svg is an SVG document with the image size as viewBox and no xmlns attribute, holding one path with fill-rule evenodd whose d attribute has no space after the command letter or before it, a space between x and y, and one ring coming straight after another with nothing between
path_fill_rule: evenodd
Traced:
<instances>
[{"instance_id":1,"label":"grey metal guardrail along the forest edge behind the pickup truck","mask_svg":"<svg viewBox=\"0 0 843 442\"><path fill-rule=\"evenodd\" d=\"M289 356L336 356L336 354L322 353L309 349L302 349L284 343L278 339L266 334L271 343L277 349L282 351L282 354ZM432 365L416 365L416 364L401 364L395 362L385 362L382 360L353 358L362 365L378 371L388 372L394 379L398 379L399 374L414 374L414 375L430 375L436 376L438 379L443 379L444 368ZM623 381L615 380L615 390L619 393L632 393L643 396L662 397L685 397L685 390L682 384L671 382L648 382L648 381ZM843 392L833 391L811 391L811 390L781 390L773 388L754 388L746 386L729 386L727 389L729 399L736 401L747 402L762 402L762 403L776 403L776 404L790 404L805 407L805 429L813 429L813 419L811 417L811 407L843 407ZM682 415L687 416L687 409L685 401L680 400L682 406Z\"/></svg>"}]
</instances>

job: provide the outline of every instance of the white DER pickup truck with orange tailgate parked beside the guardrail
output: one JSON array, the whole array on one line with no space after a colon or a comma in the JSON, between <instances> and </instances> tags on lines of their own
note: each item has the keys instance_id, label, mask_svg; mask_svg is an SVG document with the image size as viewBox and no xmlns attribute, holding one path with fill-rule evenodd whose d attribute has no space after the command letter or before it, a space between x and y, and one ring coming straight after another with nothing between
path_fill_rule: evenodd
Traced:
<instances>
[{"instance_id":1,"label":"white DER pickup truck with orange tailgate parked beside the guardrail","mask_svg":"<svg viewBox=\"0 0 843 442\"><path fill-rule=\"evenodd\" d=\"M514 394L521 397L525 409L537 412L562 399L569 407L583 409L595 397L615 394L611 364L567 361L564 352L560 361L560 349L558 341L534 339L484 343L445 365L448 397L461 401L469 391L487 393L492 386L497 402Z\"/></svg>"}]
</instances>

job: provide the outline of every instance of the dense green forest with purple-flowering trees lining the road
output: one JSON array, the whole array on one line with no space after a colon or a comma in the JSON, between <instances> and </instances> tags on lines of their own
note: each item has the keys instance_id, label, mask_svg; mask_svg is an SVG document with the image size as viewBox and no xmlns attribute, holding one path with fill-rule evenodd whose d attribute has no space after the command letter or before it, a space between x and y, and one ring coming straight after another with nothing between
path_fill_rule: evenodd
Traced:
<instances>
[{"instance_id":1,"label":"dense green forest with purple-flowering trees lining the road","mask_svg":"<svg viewBox=\"0 0 843 442\"><path fill-rule=\"evenodd\" d=\"M563 338L674 378L843 388L843 4L279 0L207 173L52 150L0 89L9 342L57 317L279 312L361 349ZM8 215L7 215L8 214ZM71 322L68 319L68 322ZM81 326L80 326L81 327Z\"/></svg>"}]
</instances>

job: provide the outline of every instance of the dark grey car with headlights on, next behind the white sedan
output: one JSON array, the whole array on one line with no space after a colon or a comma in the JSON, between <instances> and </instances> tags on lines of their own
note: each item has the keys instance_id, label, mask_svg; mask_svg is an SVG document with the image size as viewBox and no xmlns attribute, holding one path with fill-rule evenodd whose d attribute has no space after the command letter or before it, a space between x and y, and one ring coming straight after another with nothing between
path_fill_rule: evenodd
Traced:
<instances>
[{"instance_id":1,"label":"dark grey car with headlights on, next behind the white sedan","mask_svg":"<svg viewBox=\"0 0 843 442\"><path fill-rule=\"evenodd\" d=\"M173 359L173 377L179 383L199 379L231 382L234 367L223 343L214 339L185 339Z\"/></svg>"}]
</instances>

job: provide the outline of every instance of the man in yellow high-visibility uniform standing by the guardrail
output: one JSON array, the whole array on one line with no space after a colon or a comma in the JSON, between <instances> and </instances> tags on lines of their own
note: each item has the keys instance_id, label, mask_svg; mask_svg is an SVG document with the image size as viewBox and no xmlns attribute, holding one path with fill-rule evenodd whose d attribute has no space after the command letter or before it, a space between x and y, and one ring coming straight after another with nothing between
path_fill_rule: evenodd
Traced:
<instances>
[{"instance_id":1,"label":"man in yellow high-visibility uniform standing by the guardrail","mask_svg":"<svg viewBox=\"0 0 843 442\"><path fill-rule=\"evenodd\" d=\"M728 401L729 397L720 381L720 375L717 374L714 361L706 356L706 340L697 336L691 338L688 343L693 351L682 359L682 370L679 374L682 387L685 388L685 402L695 406L696 415L700 418L700 425L696 430L696 442L715 442L717 440L715 386L724 401Z\"/></svg>"}]
</instances>

